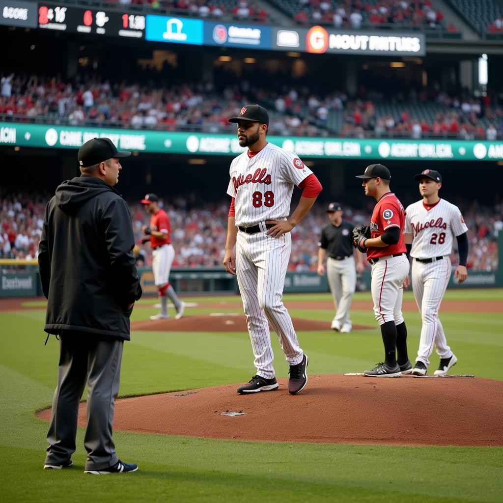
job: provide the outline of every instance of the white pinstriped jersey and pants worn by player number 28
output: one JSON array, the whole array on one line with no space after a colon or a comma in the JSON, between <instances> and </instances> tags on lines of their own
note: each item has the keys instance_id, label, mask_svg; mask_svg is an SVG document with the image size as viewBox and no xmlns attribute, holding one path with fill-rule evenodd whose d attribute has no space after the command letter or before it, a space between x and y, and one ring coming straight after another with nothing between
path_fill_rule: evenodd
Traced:
<instances>
[{"instance_id":1,"label":"white pinstriped jersey and pants worn by player number 28","mask_svg":"<svg viewBox=\"0 0 503 503\"><path fill-rule=\"evenodd\" d=\"M453 239L467 230L459 208L444 199L430 206L421 200L407 207L405 233L412 234L412 290L423 321L416 361L427 367L434 345L440 358L452 356L438 312L451 276ZM421 262L429 259L433 261Z\"/></svg>"}]
</instances>

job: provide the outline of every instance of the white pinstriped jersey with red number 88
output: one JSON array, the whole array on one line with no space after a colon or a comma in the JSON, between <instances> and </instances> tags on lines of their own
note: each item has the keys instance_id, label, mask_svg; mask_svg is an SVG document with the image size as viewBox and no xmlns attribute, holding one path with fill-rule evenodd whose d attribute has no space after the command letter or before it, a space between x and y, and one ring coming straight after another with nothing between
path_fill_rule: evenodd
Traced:
<instances>
[{"instance_id":1,"label":"white pinstriped jersey with red number 88","mask_svg":"<svg viewBox=\"0 0 503 503\"><path fill-rule=\"evenodd\" d=\"M247 150L234 158L229 173L236 225L248 226L288 217L294 185L312 171L295 153L268 143L251 158Z\"/></svg>"}]
</instances>

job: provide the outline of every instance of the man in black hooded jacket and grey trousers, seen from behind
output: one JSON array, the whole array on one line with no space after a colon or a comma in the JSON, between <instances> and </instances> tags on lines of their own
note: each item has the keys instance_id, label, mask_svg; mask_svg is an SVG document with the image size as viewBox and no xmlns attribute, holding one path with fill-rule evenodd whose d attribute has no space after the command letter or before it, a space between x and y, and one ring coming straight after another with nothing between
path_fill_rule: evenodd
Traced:
<instances>
[{"instance_id":1,"label":"man in black hooded jacket and grey trousers, seen from behind","mask_svg":"<svg viewBox=\"0 0 503 503\"><path fill-rule=\"evenodd\" d=\"M88 384L85 473L134 471L112 440L129 316L141 287L133 255L129 209L114 189L122 167L108 138L78 151L80 177L63 182L45 211L39 245L40 278L48 299L45 331L60 337L58 382L44 468L72 464L78 402Z\"/></svg>"}]
</instances>

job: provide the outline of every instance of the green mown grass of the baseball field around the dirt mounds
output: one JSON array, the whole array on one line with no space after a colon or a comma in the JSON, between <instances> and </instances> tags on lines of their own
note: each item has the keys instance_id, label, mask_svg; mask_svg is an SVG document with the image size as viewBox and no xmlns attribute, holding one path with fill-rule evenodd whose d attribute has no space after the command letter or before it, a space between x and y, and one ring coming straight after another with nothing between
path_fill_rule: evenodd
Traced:
<instances>
[{"instance_id":1,"label":"green mown grass of the baseball field around the dirt mounds","mask_svg":"<svg viewBox=\"0 0 503 503\"><path fill-rule=\"evenodd\" d=\"M412 298L410 292L405 295ZM355 298L369 296L368 292L359 293ZM286 295L285 301L328 298L328 294ZM503 290L450 290L445 298L497 299L503 307ZM199 307L186 310L186 315L192 315L214 311L205 307L209 302L235 302L238 298L188 300L199 303ZM132 320L155 313L154 302L152 298L141 300ZM34 413L51 402L58 356L54 337L44 347L43 305L35 301L27 304L30 310L0 312L2 501L502 500L503 448L497 447L245 443L115 432L119 457L138 463L140 470L128 475L91 477L82 473L85 451L83 431L79 429L74 466L61 471L43 470L47 423ZM333 316L332 311L308 308L290 312L292 316L327 322ZM311 374L361 372L380 359L382 342L373 313L352 311L352 318L354 323L375 329L351 334L331 330L299 332L301 346L309 355ZM503 380L503 313L441 311L441 319L459 359L455 373ZM415 312L405 313L405 320L412 359L421 323ZM277 376L286 377L288 366L274 334L273 347ZM437 364L434 355L432 368ZM254 371L247 333L133 332L132 342L125 344L120 396L243 383ZM421 414L420 404L417 413ZM295 409L285 410L285 414L295 414Z\"/></svg>"}]
</instances>

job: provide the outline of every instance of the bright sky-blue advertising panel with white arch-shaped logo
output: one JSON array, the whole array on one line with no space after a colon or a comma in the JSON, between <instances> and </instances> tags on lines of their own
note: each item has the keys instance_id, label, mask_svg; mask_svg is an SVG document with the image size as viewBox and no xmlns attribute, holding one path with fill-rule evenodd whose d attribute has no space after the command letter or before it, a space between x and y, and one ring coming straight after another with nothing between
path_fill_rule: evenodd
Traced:
<instances>
[{"instance_id":1,"label":"bright sky-blue advertising panel with white arch-shaped logo","mask_svg":"<svg viewBox=\"0 0 503 503\"><path fill-rule=\"evenodd\" d=\"M202 45L204 22L200 19L147 15L147 40L175 44Z\"/></svg>"}]
</instances>

